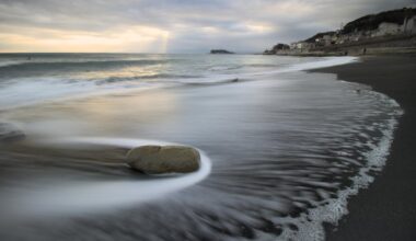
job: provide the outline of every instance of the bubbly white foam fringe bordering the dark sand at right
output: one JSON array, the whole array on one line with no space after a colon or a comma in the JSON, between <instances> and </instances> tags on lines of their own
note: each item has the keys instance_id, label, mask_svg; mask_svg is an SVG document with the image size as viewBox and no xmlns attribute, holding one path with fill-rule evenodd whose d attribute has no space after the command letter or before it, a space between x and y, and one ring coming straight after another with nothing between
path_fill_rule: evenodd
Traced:
<instances>
[{"instance_id":1,"label":"bubbly white foam fringe bordering the dark sand at right","mask_svg":"<svg viewBox=\"0 0 416 241\"><path fill-rule=\"evenodd\" d=\"M374 94L379 94L373 92ZM392 106L400 107L397 102L389 99L384 94L380 94L384 101ZM402 115L402 111L396 111L396 115ZM390 147L393 141L394 129L397 126L397 120L392 117L382 130L382 138L377 146L369 152L365 153L366 164L359 170L356 176L350 177L353 184L337 192L336 198L325 199L325 204L316 203L315 208L309 209L307 214L301 214L300 217L284 218L284 221L296 223L298 230L285 229L281 234L281 240L308 240L323 241L325 240L325 230L323 223L332 223L336 226L340 218L348 214L348 199L357 195L359 190L367 188L374 177L370 175L372 171L380 171L386 162L390 153ZM279 218L281 220L281 218Z\"/></svg>"}]
</instances>

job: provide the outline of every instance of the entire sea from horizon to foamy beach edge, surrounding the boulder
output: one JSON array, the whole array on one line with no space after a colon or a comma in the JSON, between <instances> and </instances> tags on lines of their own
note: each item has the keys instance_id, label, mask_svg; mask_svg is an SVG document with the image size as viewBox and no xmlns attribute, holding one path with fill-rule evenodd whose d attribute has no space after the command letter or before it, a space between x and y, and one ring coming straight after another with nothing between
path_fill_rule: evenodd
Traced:
<instances>
[{"instance_id":1,"label":"entire sea from horizon to foamy beach edge, surrounding the boulder","mask_svg":"<svg viewBox=\"0 0 416 241\"><path fill-rule=\"evenodd\" d=\"M359 61L1 54L0 240L324 240L377 181L403 114L308 71ZM200 169L126 164L171 144L197 148Z\"/></svg>"}]
</instances>

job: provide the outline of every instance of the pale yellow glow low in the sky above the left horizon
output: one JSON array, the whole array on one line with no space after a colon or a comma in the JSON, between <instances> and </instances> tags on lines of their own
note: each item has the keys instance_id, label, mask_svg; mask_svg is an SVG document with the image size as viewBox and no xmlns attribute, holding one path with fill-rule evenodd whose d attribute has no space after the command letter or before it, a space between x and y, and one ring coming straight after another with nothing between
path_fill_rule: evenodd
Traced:
<instances>
[{"instance_id":1,"label":"pale yellow glow low in the sky above the left horizon","mask_svg":"<svg viewBox=\"0 0 416 241\"><path fill-rule=\"evenodd\" d=\"M0 33L7 51L165 53L170 33L155 27L130 26L109 32L36 28L35 33ZM47 36L47 37L43 37Z\"/></svg>"}]
</instances>

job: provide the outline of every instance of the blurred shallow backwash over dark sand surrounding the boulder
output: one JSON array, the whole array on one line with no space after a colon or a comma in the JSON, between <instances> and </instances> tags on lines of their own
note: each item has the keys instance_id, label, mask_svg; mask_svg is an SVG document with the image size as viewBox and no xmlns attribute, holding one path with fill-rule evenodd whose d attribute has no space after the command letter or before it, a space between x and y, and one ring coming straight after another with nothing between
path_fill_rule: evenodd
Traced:
<instances>
[{"instance_id":1,"label":"blurred shallow backwash over dark sand surrounding the boulder","mask_svg":"<svg viewBox=\"0 0 416 241\"><path fill-rule=\"evenodd\" d=\"M361 171L382 165L368 154L384 157L398 111L335 77L293 71L5 112L27 142L0 152L0 239L323 240L322 222L372 180ZM194 146L211 172L139 176L123 162L138 140Z\"/></svg>"}]
</instances>

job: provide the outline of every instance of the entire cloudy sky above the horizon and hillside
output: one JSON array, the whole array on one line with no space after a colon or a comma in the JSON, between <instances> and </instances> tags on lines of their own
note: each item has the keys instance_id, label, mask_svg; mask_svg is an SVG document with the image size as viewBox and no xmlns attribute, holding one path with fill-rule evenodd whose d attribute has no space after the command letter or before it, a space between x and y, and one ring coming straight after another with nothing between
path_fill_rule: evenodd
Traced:
<instances>
[{"instance_id":1,"label":"entire cloudy sky above the horizon and hillside","mask_svg":"<svg viewBox=\"0 0 416 241\"><path fill-rule=\"evenodd\" d=\"M259 53L415 0L0 0L0 53Z\"/></svg>"}]
</instances>

